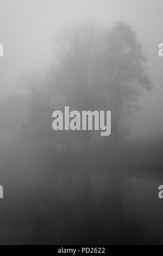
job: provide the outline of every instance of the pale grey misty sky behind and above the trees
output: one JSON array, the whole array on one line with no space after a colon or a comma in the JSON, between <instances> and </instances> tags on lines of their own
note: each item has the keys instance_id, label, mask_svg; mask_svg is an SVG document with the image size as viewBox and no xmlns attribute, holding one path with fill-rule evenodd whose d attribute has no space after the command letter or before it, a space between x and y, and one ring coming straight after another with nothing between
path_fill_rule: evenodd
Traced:
<instances>
[{"instance_id":1,"label":"pale grey misty sky behind and above the trees","mask_svg":"<svg viewBox=\"0 0 163 256\"><path fill-rule=\"evenodd\" d=\"M16 87L17 79L34 70L48 70L52 45L62 26L90 19L104 27L115 20L126 21L136 31L148 57L153 92L143 99L143 110L131 117L133 136L163 134L162 0L0 0L1 97Z\"/></svg>"}]
</instances>

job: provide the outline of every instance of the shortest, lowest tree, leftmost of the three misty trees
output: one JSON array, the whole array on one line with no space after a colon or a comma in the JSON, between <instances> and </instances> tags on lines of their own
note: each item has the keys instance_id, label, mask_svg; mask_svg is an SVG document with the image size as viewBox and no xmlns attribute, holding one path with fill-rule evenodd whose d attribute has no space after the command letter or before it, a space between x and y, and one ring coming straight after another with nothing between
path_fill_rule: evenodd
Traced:
<instances>
[{"instance_id":1,"label":"shortest, lowest tree, leftmost of the three misty trees","mask_svg":"<svg viewBox=\"0 0 163 256\"><path fill-rule=\"evenodd\" d=\"M54 148L70 148L65 132L54 133L52 129L52 113L60 105L59 98L54 100L51 94L51 79L48 76L43 78L39 72L30 75L26 81L30 88L30 110L27 122L23 125L24 136L48 150L48 153L53 152Z\"/></svg>"}]
</instances>

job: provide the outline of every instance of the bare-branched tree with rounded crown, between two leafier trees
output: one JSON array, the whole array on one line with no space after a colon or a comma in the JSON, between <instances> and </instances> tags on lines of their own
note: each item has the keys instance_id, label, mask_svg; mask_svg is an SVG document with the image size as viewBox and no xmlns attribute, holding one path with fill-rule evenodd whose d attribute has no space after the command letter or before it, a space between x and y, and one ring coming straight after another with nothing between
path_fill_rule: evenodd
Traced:
<instances>
[{"instance_id":1,"label":"bare-branched tree with rounded crown, between two leafier trees","mask_svg":"<svg viewBox=\"0 0 163 256\"><path fill-rule=\"evenodd\" d=\"M101 36L95 25L83 23L61 33L55 51L59 57L54 76L53 92L61 94L70 108L95 110L101 103L98 76ZM91 133L78 133L87 150Z\"/></svg>"}]
</instances>

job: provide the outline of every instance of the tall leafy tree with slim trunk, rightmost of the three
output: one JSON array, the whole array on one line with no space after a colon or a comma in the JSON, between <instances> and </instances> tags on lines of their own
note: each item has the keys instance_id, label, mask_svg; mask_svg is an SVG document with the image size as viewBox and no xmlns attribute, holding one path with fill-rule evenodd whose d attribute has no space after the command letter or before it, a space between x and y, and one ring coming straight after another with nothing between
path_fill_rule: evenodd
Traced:
<instances>
[{"instance_id":1,"label":"tall leafy tree with slim trunk, rightmost of the three","mask_svg":"<svg viewBox=\"0 0 163 256\"><path fill-rule=\"evenodd\" d=\"M118 123L122 113L139 109L140 96L145 90L151 91L152 86L147 75L147 58L129 25L115 22L106 34L103 49L103 90L111 102L112 129L118 147Z\"/></svg>"}]
</instances>

